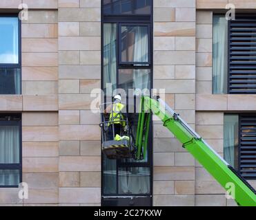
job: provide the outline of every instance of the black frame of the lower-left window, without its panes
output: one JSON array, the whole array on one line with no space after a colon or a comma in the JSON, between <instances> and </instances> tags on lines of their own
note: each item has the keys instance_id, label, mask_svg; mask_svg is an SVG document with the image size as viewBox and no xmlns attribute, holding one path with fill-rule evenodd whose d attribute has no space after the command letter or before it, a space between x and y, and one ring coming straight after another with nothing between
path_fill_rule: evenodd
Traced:
<instances>
[{"instance_id":1,"label":"black frame of the lower-left window, without its panes","mask_svg":"<svg viewBox=\"0 0 256 220\"><path fill-rule=\"evenodd\" d=\"M0 164L0 170L19 170L19 183L22 182L22 125L21 114L0 113L0 126L19 126L19 164ZM0 188L19 188L19 185L1 186Z\"/></svg>"}]
</instances>

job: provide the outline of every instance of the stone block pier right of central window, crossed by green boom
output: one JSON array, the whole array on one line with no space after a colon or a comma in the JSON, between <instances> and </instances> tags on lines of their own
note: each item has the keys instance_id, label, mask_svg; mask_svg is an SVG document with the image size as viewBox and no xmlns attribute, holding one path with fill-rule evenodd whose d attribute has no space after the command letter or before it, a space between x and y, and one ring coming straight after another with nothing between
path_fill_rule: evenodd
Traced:
<instances>
[{"instance_id":1,"label":"stone block pier right of central window, crossed by green boom","mask_svg":"<svg viewBox=\"0 0 256 220\"><path fill-rule=\"evenodd\" d=\"M153 88L195 127L195 1L154 1ZM195 206L195 159L154 122L153 205Z\"/></svg>"}]
</instances>

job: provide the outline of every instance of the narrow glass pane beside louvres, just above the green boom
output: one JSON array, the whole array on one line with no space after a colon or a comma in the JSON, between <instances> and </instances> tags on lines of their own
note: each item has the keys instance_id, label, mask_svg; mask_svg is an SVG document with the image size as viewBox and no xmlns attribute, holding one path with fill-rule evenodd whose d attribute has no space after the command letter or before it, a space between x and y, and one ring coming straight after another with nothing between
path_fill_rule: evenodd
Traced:
<instances>
[{"instance_id":1,"label":"narrow glass pane beside louvres, just above the green boom","mask_svg":"<svg viewBox=\"0 0 256 220\"><path fill-rule=\"evenodd\" d=\"M224 159L235 169L238 168L239 116L224 115Z\"/></svg>"}]
</instances>

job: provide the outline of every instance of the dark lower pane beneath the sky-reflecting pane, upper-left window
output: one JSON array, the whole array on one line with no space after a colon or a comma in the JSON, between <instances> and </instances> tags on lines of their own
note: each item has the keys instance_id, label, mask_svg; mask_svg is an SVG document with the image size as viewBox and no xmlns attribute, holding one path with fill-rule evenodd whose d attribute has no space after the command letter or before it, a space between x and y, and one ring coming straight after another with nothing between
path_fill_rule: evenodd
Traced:
<instances>
[{"instance_id":1,"label":"dark lower pane beneath the sky-reflecting pane, upper-left window","mask_svg":"<svg viewBox=\"0 0 256 220\"><path fill-rule=\"evenodd\" d=\"M21 69L0 69L0 94L21 94Z\"/></svg>"}]
</instances>

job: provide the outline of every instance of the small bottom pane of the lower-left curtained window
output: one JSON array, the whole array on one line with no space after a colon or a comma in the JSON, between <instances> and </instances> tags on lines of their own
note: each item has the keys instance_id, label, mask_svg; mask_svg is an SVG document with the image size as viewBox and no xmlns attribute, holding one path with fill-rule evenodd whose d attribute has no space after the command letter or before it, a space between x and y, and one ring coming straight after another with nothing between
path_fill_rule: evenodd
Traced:
<instances>
[{"instance_id":1,"label":"small bottom pane of the lower-left curtained window","mask_svg":"<svg viewBox=\"0 0 256 220\"><path fill-rule=\"evenodd\" d=\"M0 170L0 186L18 186L19 170Z\"/></svg>"}]
</instances>

